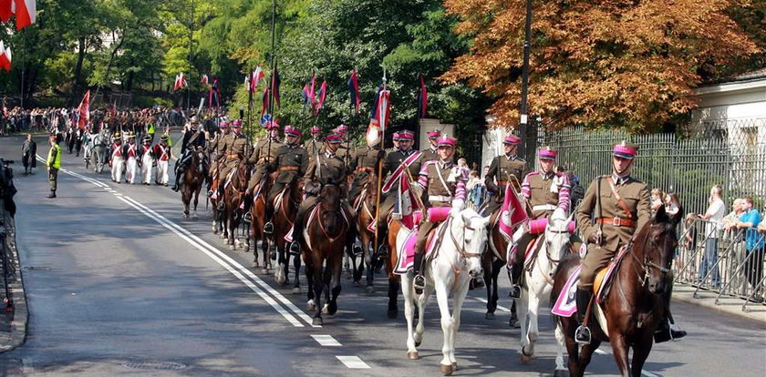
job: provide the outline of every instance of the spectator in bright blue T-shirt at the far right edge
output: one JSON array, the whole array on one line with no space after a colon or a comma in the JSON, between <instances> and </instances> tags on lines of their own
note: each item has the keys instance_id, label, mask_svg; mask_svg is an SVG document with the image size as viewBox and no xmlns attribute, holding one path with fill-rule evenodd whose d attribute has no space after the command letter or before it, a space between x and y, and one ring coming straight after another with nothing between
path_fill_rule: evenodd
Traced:
<instances>
[{"instance_id":1,"label":"spectator in bright blue T-shirt at the far right edge","mask_svg":"<svg viewBox=\"0 0 766 377\"><path fill-rule=\"evenodd\" d=\"M761 273L763 272L763 237L758 232L758 226L761 224L761 213L753 208L753 201L750 197L745 197L742 203L742 209L745 211L740 215L740 222L737 223L738 229L745 230L745 273L753 290L759 289L761 282Z\"/></svg>"}]
</instances>

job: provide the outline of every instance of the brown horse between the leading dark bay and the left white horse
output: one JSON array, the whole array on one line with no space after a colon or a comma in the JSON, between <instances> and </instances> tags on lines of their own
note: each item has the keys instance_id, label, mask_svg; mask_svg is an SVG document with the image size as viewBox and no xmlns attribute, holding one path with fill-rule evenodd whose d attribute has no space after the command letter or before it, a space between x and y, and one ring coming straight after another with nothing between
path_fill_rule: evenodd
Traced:
<instances>
[{"instance_id":1,"label":"brown horse between the leading dark bay and the left white horse","mask_svg":"<svg viewBox=\"0 0 766 377\"><path fill-rule=\"evenodd\" d=\"M359 243L362 246L363 259L357 264L357 255L352 251L350 252L351 267L353 270L354 286L359 285L359 281L362 280L362 272L367 271L367 294L375 292L373 288L373 280L375 278L375 260L377 260L377 250L373 250L372 243L375 240L375 232L369 231L367 227L369 224L375 221L375 212L378 208L378 192L376 184L378 182L378 176L375 173L370 173L369 180L367 181L364 189L359 193L359 201L355 208L357 209L357 235L359 237ZM382 236L382 235L381 235ZM382 239L382 238L381 238ZM349 239L349 245L346 250L353 250L353 244L355 239ZM362 261L364 262L364 269L362 268Z\"/></svg>"}]
</instances>

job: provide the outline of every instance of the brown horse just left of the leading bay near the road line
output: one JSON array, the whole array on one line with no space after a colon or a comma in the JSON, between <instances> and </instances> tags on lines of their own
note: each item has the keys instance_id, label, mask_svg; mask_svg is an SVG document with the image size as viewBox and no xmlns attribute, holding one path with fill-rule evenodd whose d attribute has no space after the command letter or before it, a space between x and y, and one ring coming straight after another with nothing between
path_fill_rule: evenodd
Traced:
<instances>
[{"instance_id":1,"label":"brown horse just left of the leading bay near the road line","mask_svg":"<svg viewBox=\"0 0 766 377\"><path fill-rule=\"evenodd\" d=\"M274 206L274 247L276 248L276 260L277 265L274 270L274 280L279 284L289 284L289 272L290 268L290 253L288 252L289 244L285 241L285 236L288 232L293 230L295 225L295 215L298 213L298 207L303 200L303 194L301 188L303 187L303 179L298 179L295 182L285 186L282 199L275 200L272 203ZM293 267L295 269L295 284L293 285L293 293L297 294L301 292L300 280L298 275L301 270L301 259L298 256L293 256Z\"/></svg>"}]
</instances>

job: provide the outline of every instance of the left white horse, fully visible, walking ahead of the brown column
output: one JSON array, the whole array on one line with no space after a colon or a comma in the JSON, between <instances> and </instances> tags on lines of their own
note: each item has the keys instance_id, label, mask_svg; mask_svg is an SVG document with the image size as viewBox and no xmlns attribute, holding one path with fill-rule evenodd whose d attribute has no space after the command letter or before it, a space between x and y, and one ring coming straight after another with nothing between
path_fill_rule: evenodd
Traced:
<instances>
[{"instance_id":1,"label":"left white horse, fully visible, walking ahead of the brown column","mask_svg":"<svg viewBox=\"0 0 766 377\"><path fill-rule=\"evenodd\" d=\"M444 375L450 375L457 369L455 359L455 337L461 326L461 307L468 293L471 278L481 276L481 254L486 249L487 224L490 219L482 218L473 209L463 209L457 215L450 215L437 228L437 234L442 227L447 227L442 242L433 260L429 260L423 268L426 287L423 293L417 295L412 285L414 275L409 272L402 276L401 290L404 296L404 313L407 318L407 356L411 360L419 359L418 350L423 340L423 317L426 312L430 293L436 290L436 300L439 302L441 313L441 331L444 343L441 347L443 358L440 366ZM397 249L407 238L407 232L399 232ZM428 258L428 257L427 257ZM453 308L450 314L449 296L454 295ZM413 331L413 303L418 305L419 321Z\"/></svg>"}]
</instances>

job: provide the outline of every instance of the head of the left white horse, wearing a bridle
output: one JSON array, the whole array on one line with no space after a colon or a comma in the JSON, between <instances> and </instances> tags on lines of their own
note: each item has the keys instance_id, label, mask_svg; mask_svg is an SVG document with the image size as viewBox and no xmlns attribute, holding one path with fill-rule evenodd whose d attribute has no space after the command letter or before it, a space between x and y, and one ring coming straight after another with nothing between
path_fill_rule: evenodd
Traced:
<instances>
[{"instance_id":1,"label":"head of the left white horse, wearing a bridle","mask_svg":"<svg viewBox=\"0 0 766 377\"><path fill-rule=\"evenodd\" d=\"M487 249L489 223L489 217L481 217L473 209L463 209L459 216L452 217L450 237L465 260L469 275L474 278L481 277L481 255Z\"/></svg>"}]
</instances>

